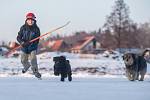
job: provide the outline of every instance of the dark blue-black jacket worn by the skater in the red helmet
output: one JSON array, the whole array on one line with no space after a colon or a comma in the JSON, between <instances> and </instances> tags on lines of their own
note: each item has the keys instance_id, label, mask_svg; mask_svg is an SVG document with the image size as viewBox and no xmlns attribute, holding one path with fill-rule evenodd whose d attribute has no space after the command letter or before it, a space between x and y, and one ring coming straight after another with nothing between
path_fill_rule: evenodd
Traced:
<instances>
[{"instance_id":1,"label":"dark blue-black jacket worn by the skater in the red helmet","mask_svg":"<svg viewBox=\"0 0 150 100\"><path fill-rule=\"evenodd\" d=\"M25 23L18 32L17 41L22 44L31 41L40 36L40 29L36 25L36 21L32 26L28 26ZM37 50L39 39L30 43L28 46L22 47L21 50L25 53L31 53L31 51Z\"/></svg>"}]
</instances>

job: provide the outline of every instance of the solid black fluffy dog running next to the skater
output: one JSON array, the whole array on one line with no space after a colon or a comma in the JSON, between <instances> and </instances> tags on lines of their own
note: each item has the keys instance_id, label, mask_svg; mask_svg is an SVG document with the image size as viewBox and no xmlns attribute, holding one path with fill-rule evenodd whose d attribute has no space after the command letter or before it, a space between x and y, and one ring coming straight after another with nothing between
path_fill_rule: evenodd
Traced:
<instances>
[{"instance_id":1,"label":"solid black fluffy dog running next to the skater","mask_svg":"<svg viewBox=\"0 0 150 100\"><path fill-rule=\"evenodd\" d=\"M66 60L64 56L58 56L53 58L54 61L54 75L61 75L61 81L65 81L68 77L69 81L72 81L72 71L69 60Z\"/></svg>"}]
</instances>

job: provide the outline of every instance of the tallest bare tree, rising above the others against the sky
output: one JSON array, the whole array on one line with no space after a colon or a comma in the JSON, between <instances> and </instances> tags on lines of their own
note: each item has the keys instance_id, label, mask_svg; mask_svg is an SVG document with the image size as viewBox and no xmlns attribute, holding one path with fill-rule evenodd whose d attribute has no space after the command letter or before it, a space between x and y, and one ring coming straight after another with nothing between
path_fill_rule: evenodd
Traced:
<instances>
[{"instance_id":1,"label":"tallest bare tree, rising above the others against the sky","mask_svg":"<svg viewBox=\"0 0 150 100\"><path fill-rule=\"evenodd\" d=\"M129 18L129 7L126 5L124 0L115 1L113 11L106 18L104 29L110 30L116 40L116 45L121 48L124 39L127 39L127 33L129 33L129 27L132 23ZM127 44L127 43L125 43Z\"/></svg>"}]
</instances>

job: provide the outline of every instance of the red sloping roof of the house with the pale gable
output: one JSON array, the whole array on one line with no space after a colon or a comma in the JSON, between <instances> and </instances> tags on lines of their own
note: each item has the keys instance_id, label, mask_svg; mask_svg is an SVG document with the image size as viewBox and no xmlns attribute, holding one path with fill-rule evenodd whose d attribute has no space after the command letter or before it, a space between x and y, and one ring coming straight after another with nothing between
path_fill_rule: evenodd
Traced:
<instances>
[{"instance_id":1,"label":"red sloping roof of the house with the pale gable","mask_svg":"<svg viewBox=\"0 0 150 100\"><path fill-rule=\"evenodd\" d=\"M90 43L94 38L94 36L87 36L82 40L78 41L78 43L72 49L80 50L84 48L88 43Z\"/></svg>"}]
</instances>

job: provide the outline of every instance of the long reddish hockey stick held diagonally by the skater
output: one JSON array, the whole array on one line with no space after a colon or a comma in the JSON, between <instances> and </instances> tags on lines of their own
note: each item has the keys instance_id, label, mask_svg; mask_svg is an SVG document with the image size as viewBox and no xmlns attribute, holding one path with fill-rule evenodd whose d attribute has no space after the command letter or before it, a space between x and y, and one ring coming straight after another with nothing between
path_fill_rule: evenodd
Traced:
<instances>
[{"instance_id":1,"label":"long reddish hockey stick held diagonally by the skater","mask_svg":"<svg viewBox=\"0 0 150 100\"><path fill-rule=\"evenodd\" d=\"M34 41L36 41L36 40L38 40L38 39L40 39L40 38L42 38L42 37L44 37L44 36L46 36L46 35L48 35L48 34L51 34L52 32L55 32L55 31L57 31L57 30L59 30L59 29L61 29L61 28L63 28L63 27L66 27L69 23L70 23L70 21L67 22L66 24L60 26L60 27L57 27L57 28L55 28L55 29L53 29L53 30L51 30L51 31L49 31L49 32L47 32L47 33L45 33L45 34L43 34L43 35L41 35L41 36L39 36L39 37L37 37L37 38L31 40L31 41L29 41L29 43L32 43L32 42L34 42ZM14 51L17 50L17 49L20 49L21 47L22 47L22 46L19 45L19 46L15 47L14 49L8 51L8 52L5 54L6 57L8 57L9 54L11 54L12 52L14 52Z\"/></svg>"}]
</instances>

